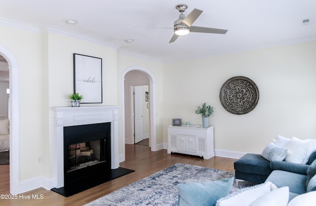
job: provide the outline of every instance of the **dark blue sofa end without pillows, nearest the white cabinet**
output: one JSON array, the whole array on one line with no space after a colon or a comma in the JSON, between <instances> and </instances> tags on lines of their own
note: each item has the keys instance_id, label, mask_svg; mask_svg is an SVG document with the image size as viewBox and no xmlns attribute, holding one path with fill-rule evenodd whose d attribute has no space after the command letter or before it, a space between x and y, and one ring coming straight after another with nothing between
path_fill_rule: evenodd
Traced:
<instances>
[{"instance_id":1,"label":"dark blue sofa end without pillows, nearest the white cabinet","mask_svg":"<svg viewBox=\"0 0 316 206\"><path fill-rule=\"evenodd\" d=\"M247 153L234 163L235 170L239 172L269 175L272 170L270 161L263 158L260 154Z\"/></svg>"}]
</instances>

